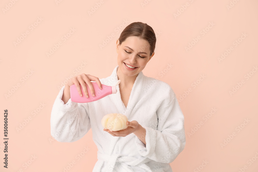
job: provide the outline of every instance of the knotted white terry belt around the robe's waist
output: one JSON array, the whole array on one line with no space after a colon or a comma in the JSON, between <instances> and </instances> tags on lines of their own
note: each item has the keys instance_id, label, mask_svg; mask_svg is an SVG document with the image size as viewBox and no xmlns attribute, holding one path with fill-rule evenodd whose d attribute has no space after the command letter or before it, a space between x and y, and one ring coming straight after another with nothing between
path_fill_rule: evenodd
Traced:
<instances>
[{"instance_id":1,"label":"knotted white terry belt around the robe's waist","mask_svg":"<svg viewBox=\"0 0 258 172\"><path fill-rule=\"evenodd\" d=\"M112 155L108 155L106 153L101 153L98 151L98 159L103 160L105 162L108 162L107 165L107 170L112 172L115 166L116 162L120 162L121 165L127 169L127 171L132 171L132 169L130 169L128 166L139 166L149 172L151 172L152 170L150 169L150 167L148 167L145 163L151 161L151 159L147 158L147 157L141 157L141 158L135 158L135 157L130 157L130 156L126 156L124 154L112 154ZM125 164L123 164L125 163ZM101 167L100 167L101 168ZM132 171L133 172L133 171Z\"/></svg>"}]
</instances>

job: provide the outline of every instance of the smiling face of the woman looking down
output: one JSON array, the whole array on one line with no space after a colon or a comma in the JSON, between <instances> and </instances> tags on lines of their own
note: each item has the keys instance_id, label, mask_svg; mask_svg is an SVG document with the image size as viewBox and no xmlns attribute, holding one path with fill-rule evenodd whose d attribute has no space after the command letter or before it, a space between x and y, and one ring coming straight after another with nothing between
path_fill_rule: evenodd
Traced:
<instances>
[{"instance_id":1,"label":"smiling face of the woman looking down","mask_svg":"<svg viewBox=\"0 0 258 172\"><path fill-rule=\"evenodd\" d=\"M117 40L116 52L118 53L117 63L119 68L127 76L134 76L141 72L154 55L153 52L150 56L148 41L137 36L127 37L121 45L119 45L119 40ZM132 69L125 64L136 68Z\"/></svg>"}]
</instances>

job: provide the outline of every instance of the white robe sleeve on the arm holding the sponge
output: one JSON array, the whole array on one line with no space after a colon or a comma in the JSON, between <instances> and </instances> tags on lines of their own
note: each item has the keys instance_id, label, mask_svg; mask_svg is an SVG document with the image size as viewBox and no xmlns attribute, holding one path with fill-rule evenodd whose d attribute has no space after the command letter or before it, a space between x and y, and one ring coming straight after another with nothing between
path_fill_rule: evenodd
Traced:
<instances>
[{"instance_id":1,"label":"white robe sleeve on the arm holding the sponge","mask_svg":"<svg viewBox=\"0 0 258 172\"><path fill-rule=\"evenodd\" d=\"M146 129L146 145L135 136L136 149L143 157L160 163L171 163L186 144L184 116L171 87L156 113L157 130L142 126Z\"/></svg>"}]
</instances>

